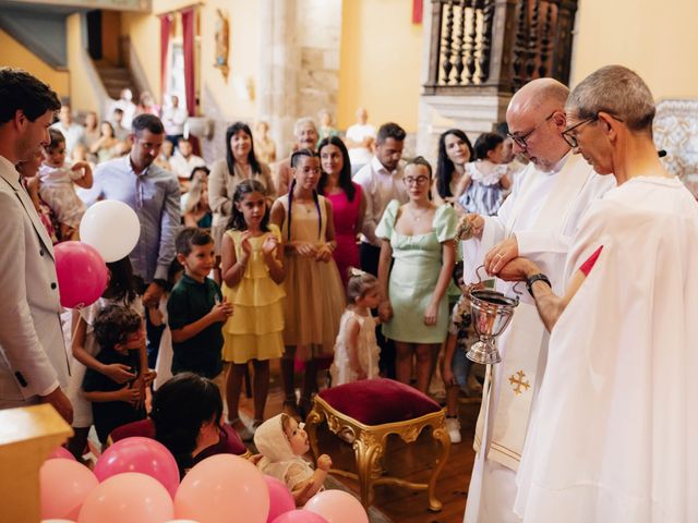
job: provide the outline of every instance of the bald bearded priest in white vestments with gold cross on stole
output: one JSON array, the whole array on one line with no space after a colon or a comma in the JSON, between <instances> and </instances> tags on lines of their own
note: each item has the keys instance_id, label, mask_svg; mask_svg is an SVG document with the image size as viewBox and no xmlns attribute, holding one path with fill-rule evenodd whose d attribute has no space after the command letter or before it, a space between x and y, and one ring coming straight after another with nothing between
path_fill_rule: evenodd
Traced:
<instances>
[{"instance_id":1,"label":"bald bearded priest in white vestments with gold cross on stole","mask_svg":"<svg viewBox=\"0 0 698 523\"><path fill-rule=\"evenodd\" d=\"M468 215L476 238L464 242L466 266L484 263L491 273L517 255L535 260L562 292L569 240L589 203L614 183L571 155L562 137L569 89L552 78L534 80L512 98L507 123L515 153L530 159L497 216ZM480 270L483 276L483 270ZM466 281L478 281L474 273ZM514 296L502 280L497 290ZM519 285L521 287L521 285ZM497 340L502 363L488 369L476 429L466 523L508 523L514 513L518 469L529 414L545 365L547 332L533 300L521 296L508 329Z\"/></svg>"}]
</instances>

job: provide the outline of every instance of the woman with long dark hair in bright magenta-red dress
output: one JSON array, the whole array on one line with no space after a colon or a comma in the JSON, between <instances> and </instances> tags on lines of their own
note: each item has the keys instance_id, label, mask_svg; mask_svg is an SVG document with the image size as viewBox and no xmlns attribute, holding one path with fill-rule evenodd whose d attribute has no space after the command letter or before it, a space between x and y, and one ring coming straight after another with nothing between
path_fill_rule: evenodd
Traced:
<instances>
[{"instance_id":1,"label":"woman with long dark hair in bright magenta-red dress","mask_svg":"<svg viewBox=\"0 0 698 523\"><path fill-rule=\"evenodd\" d=\"M347 146L337 136L320 142L317 148L322 175L317 192L332 202L337 248L333 253L341 282L347 287L349 267L359 267L357 234L363 224L366 202L361 185L351 181Z\"/></svg>"}]
</instances>

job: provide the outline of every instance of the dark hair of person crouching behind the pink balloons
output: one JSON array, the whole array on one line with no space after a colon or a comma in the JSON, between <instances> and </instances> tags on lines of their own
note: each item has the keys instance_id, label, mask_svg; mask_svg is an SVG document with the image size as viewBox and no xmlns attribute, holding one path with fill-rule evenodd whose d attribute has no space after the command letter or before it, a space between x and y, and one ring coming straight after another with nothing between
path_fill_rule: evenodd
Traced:
<instances>
[{"instance_id":1,"label":"dark hair of person crouching behind the pink balloons","mask_svg":"<svg viewBox=\"0 0 698 523\"><path fill-rule=\"evenodd\" d=\"M181 373L161 385L153 397L151 419L155 439L172 453L183 476L193 464L192 452L202 425L220 424L222 400L210 379Z\"/></svg>"}]
</instances>

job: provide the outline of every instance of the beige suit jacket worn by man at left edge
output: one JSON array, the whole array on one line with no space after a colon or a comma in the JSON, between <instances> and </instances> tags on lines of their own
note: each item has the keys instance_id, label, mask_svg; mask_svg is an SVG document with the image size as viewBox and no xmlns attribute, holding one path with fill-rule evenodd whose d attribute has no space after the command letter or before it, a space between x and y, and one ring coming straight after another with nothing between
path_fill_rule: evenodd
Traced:
<instances>
[{"instance_id":1,"label":"beige suit jacket worn by man at left edge","mask_svg":"<svg viewBox=\"0 0 698 523\"><path fill-rule=\"evenodd\" d=\"M51 241L14 166L0 156L0 405L68 387Z\"/></svg>"}]
</instances>

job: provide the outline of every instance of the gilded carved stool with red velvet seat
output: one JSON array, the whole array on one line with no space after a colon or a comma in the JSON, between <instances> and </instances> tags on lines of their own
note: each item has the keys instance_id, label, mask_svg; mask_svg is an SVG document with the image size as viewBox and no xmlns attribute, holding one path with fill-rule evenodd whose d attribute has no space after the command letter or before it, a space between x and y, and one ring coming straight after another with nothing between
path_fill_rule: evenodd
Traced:
<instances>
[{"instance_id":1,"label":"gilded carved stool with red velvet seat","mask_svg":"<svg viewBox=\"0 0 698 523\"><path fill-rule=\"evenodd\" d=\"M373 503L373 487L395 485L410 490L426 490L429 509L438 512L442 502L436 499L436 478L446 464L450 440L445 429L445 416L436 402L407 385L392 379L364 379L323 390L315 397L313 410L305 419L305 430L315 458L317 426L327 421L337 435L353 439L358 474L332 470L333 474L359 482L364 508ZM381 464L389 434L397 434L405 442L417 439L424 427L432 427L432 436L440 443L441 452L434 458L434 469L429 483L411 483L383 475Z\"/></svg>"}]
</instances>

